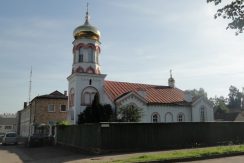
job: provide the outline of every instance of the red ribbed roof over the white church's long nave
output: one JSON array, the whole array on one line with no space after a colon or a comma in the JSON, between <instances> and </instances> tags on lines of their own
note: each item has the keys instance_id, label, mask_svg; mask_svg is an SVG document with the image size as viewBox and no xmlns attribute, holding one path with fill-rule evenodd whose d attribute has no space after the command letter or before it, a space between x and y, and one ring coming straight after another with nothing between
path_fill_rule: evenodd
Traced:
<instances>
[{"instance_id":1,"label":"red ribbed roof over the white church's long nave","mask_svg":"<svg viewBox=\"0 0 244 163\"><path fill-rule=\"evenodd\" d=\"M172 104L185 102L184 92L182 90L168 86L105 81L104 88L105 93L112 101L116 100L125 93L142 90L145 92L145 100L151 104Z\"/></svg>"}]
</instances>

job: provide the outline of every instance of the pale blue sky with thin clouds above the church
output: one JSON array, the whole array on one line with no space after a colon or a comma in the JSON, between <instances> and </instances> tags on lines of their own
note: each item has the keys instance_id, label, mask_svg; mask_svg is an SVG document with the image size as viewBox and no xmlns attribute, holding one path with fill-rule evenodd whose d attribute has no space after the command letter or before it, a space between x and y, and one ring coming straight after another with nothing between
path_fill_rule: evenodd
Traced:
<instances>
[{"instance_id":1,"label":"pale blue sky with thin clouds above the church","mask_svg":"<svg viewBox=\"0 0 244 163\"><path fill-rule=\"evenodd\" d=\"M0 2L0 113L31 98L68 88L75 27L82 0ZM215 20L206 0L89 0L91 24L101 31L100 61L107 80L204 88L209 97L244 87L244 38Z\"/></svg>"}]
</instances>

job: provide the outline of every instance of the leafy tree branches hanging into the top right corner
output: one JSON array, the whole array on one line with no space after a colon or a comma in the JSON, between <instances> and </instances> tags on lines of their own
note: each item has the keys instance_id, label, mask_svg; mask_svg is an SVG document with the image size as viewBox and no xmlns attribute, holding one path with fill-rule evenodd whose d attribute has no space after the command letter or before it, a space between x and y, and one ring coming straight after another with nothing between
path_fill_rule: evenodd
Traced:
<instances>
[{"instance_id":1,"label":"leafy tree branches hanging into the top right corner","mask_svg":"<svg viewBox=\"0 0 244 163\"><path fill-rule=\"evenodd\" d=\"M210 2L219 5L222 0L207 0L207 3ZM244 0L232 0L232 2L218 9L214 18L218 17L230 20L226 29L236 30L236 35L242 33L244 30Z\"/></svg>"}]
</instances>

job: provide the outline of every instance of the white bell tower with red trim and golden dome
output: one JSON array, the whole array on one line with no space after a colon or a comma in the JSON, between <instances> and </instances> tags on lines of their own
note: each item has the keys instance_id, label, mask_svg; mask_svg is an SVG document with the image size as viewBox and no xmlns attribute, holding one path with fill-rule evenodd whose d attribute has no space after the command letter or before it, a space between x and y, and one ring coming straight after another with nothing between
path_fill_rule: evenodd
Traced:
<instances>
[{"instance_id":1,"label":"white bell tower with red trim and golden dome","mask_svg":"<svg viewBox=\"0 0 244 163\"><path fill-rule=\"evenodd\" d=\"M100 31L90 24L88 4L85 23L73 32L73 63L69 83L69 117L77 124L78 115L91 105L96 93L103 103L105 74L101 74L99 57L101 52Z\"/></svg>"}]
</instances>

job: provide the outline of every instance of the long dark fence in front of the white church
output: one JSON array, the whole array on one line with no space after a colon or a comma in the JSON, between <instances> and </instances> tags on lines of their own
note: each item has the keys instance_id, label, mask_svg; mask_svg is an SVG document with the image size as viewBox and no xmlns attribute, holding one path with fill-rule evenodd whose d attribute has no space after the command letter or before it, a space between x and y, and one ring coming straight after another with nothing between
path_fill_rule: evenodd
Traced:
<instances>
[{"instance_id":1,"label":"long dark fence in front of the white church","mask_svg":"<svg viewBox=\"0 0 244 163\"><path fill-rule=\"evenodd\" d=\"M58 126L57 143L91 152L244 143L244 122L97 123Z\"/></svg>"}]
</instances>

